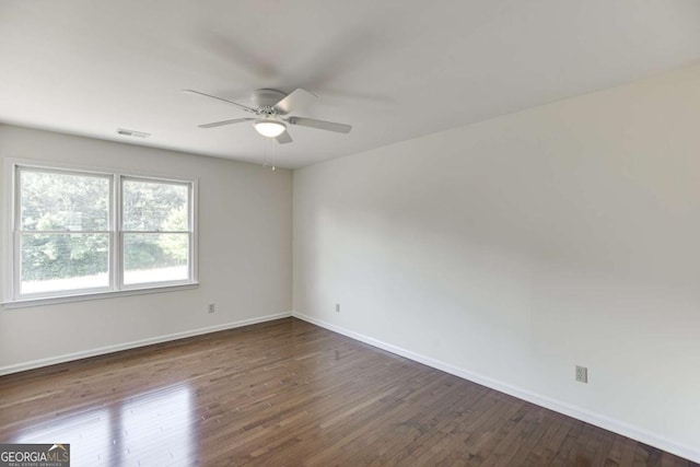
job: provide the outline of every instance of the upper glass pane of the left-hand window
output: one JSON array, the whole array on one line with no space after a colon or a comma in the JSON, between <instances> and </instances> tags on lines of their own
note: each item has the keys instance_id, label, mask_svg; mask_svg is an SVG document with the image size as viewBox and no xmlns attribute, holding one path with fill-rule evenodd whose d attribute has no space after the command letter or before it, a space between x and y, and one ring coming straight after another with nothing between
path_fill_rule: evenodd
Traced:
<instances>
[{"instance_id":1,"label":"upper glass pane of the left-hand window","mask_svg":"<svg viewBox=\"0 0 700 467\"><path fill-rule=\"evenodd\" d=\"M20 229L105 231L109 225L109 178L20 172Z\"/></svg>"}]
</instances>

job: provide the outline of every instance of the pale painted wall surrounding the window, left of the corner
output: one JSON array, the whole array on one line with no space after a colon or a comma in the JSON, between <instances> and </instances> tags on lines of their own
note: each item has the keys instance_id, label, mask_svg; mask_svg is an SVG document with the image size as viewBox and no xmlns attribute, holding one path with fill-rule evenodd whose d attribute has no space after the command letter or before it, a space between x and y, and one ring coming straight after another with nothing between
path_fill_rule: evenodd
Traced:
<instances>
[{"instance_id":1,"label":"pale painted wall surrounding the window, left of the corner","mask_svg":"<svg viewBox=\"0 0 700 467\"><path fill-rule=\"evenodd\" d=\"M200 281L192 290L0 308L0 373L291 310L290 171L4 125L0 157L198 177Z\"/></svg>"}]
</instances>

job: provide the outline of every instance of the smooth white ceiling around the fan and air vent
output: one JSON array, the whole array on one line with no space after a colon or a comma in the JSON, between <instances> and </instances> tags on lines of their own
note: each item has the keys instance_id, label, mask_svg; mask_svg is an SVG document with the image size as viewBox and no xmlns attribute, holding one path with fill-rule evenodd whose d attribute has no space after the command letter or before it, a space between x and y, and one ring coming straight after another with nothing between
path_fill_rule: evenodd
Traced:
<instances>
[{"instance_id":1,"label":"smooth white ceiling around the fan and air vent","mask_svg":"<svg viewBox=\"0 0 700 467\"><path fill-rule=\"evenodd\" d=\"M0 121L300 167L698 58L697 0L0 0ZM258 87L352 132L200 129L248 115L179 92Z\"/></svg>"}]
</instances>

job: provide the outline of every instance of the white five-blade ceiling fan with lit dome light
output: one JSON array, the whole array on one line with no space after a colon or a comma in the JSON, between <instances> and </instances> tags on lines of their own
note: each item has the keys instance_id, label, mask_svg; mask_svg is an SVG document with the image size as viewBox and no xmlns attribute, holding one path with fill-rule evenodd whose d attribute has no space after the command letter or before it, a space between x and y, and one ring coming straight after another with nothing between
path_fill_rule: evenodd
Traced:
<instances>
[{"instance_id":1,"label":"white five-blade ceiling fan with lit dome light","mask_svg":"<svg viewBox=\"0 0 700 467\"><path fill-rule=\"evenodd\" d=\"M315 128L318 130L335 131L338 133L349 133L352 127L346 124L336 124L332 121L316 120L314 118L296 117L289 115L294 107L307 97L316 97L301 87L285 94L282 91L261 89L253 92L250 100L255 107L238 104L223 97L202 93L195 90L183 90L184 93L196 94L211 100L225 102L255 115L255 117L233 118L231 120L214 121L211 124L199 125L199 128L215 128L224 125L241 124L243 121L253 121L253 126L258 133L267 138L275 138L280 144L292 142L289 135L288 125L299 125L300 127Z\"/></svg>"}]
</instances>

